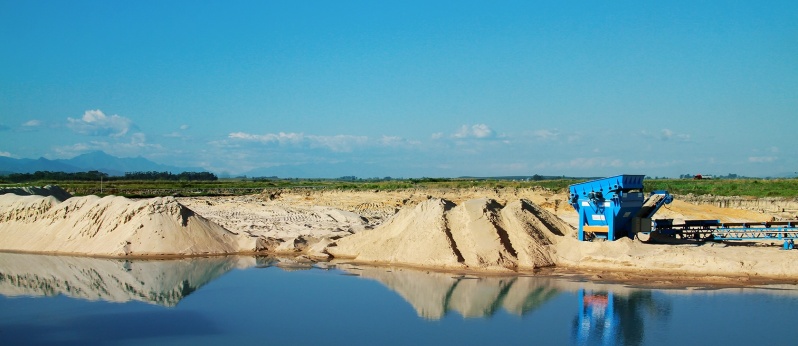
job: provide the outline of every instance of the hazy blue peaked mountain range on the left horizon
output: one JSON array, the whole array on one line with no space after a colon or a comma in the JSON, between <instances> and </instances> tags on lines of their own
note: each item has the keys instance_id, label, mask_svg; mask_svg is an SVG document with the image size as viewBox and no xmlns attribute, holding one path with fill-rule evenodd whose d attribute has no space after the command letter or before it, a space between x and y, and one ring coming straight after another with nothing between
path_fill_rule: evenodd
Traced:
<instances>
[{"instance_id":1,"label":"hazy blue peaked mountain range on the left horizon","mask_svg":"<svg viewBox=\"0 0 798 346\"><path fill-rule=\"evenodd\" d=\"M203 168L198 167L175 167L162 165L141 156L121 158L108 155L102 151L94 151L75 156L71 159L48 160L43 157L39 159L14 159L10 157L0 157L0 175L10 173L33 173L36 171L50 172L87 172L100 171L111 176L122 176L125 172L203 172Z\"/></svg>"}]
</instances>

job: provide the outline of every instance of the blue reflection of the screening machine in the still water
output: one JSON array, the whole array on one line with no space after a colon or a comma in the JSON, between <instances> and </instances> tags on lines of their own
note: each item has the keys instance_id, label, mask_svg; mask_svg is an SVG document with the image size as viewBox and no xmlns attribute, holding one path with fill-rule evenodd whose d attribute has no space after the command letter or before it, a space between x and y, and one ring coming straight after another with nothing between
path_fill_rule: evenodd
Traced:
<instances>
[{"instance_id":1,"label":"blue reflection of the screening machine in the still water","mask_svg":"<svg viewBox=\"0 0 798 346\"><path fill-rule=\"evenodd\" d=\"M582 307L577 317L576 344L615 345L621 321L615 312L612 292L585 293L580 289L579 301Z\"/></svg>"}]
</instances>

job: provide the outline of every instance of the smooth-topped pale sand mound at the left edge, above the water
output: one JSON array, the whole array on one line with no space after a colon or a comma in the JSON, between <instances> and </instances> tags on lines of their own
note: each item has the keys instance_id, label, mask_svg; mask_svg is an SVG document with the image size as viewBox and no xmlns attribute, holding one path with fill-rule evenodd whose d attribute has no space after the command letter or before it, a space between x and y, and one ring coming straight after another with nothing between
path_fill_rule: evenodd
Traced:
<instances>
[{"instance_id":1,"label":"smooth-topped pale sand mound at the left edge, above the water","mask_svg":"<svg viewBox=\"0 0 798 346\"><path fill-rule=\"evenodd\" d=\"M0 195L0 251L101 256L252 251L254 238L196 215L174 198Z\"/></svg>"}]
</instances>

